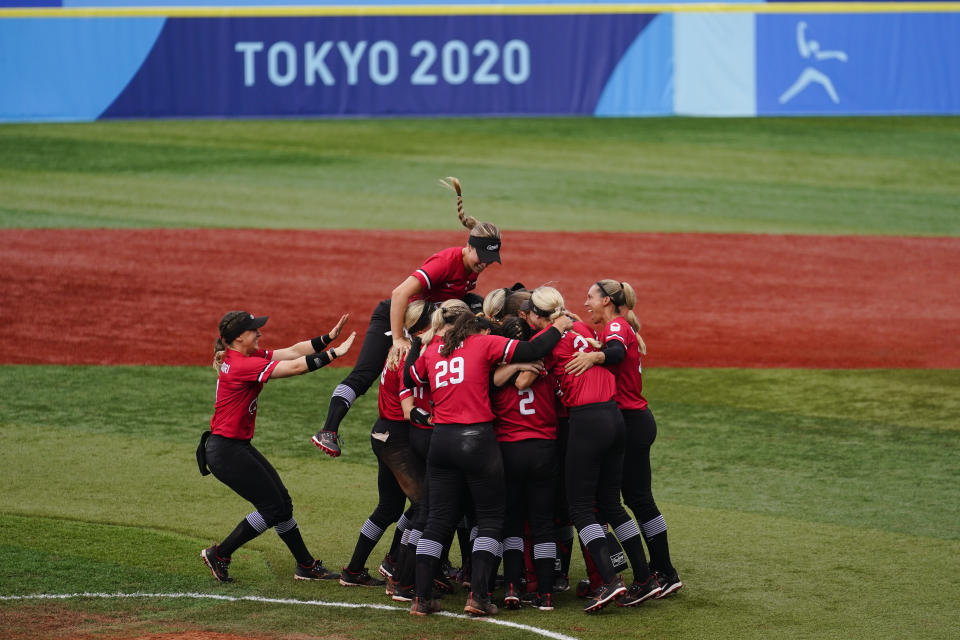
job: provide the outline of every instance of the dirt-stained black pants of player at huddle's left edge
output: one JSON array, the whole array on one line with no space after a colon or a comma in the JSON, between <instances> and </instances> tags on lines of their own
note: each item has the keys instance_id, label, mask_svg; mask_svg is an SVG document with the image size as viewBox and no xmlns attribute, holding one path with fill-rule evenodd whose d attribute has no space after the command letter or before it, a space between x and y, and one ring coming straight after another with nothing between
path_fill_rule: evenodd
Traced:
<instances>
[{"instance_id":1,"label":"dirt-stained black pants of player at huddle's left edge","mask_svg":"<svg viewBox=\"0 0 960 640\"><path fill-rule=\"evenodd\" d=\"M370 520L384 528L396 522L409 498L416 510L423 496L426 468L410 447L410 423L380 418L373 425L370 446L377 456L377 489L380 502ZM387 436L383 440L383 436ZM409 516L408 516L409 517Z\"/></svg>"}]
</instances>

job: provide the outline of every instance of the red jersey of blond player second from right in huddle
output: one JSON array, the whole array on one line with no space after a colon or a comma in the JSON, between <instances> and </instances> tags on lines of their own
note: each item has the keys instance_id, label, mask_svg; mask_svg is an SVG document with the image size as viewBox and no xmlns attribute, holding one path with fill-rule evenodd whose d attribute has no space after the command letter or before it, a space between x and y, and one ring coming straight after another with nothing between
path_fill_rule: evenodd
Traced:
<instances>
[{"instance_id":1,"label":"red jersey of blond player second from right in huddle","mask_svg":"<svg viewBox=\"0 0 960 640\"><path fill-rule=\"evenodd\" d=\"M564 406L579 407L593 402L607 402L613 399L617 391L613 374L604 367L590 367L579 376L563 370L577 351L597 351L584 339L594 337L596 334L593 329L582 322L575 322L573 330L565 332L553 351L543 359L547 371L557 378L560 401Z\"/></svg>"}]
</instances>

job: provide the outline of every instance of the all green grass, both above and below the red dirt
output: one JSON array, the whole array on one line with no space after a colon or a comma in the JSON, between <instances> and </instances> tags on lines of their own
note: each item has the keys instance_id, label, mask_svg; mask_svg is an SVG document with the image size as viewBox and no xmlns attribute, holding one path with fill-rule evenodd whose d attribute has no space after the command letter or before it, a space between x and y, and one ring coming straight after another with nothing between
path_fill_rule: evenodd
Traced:
<instances>
[{"instance_id":1,"label":"all green grass, both above and below the red dirt","mask_svg":"<svg viewBox=\"0 0 960 640\"><path fill-rule=\"evenodd\" d=\"M436 178L457 175L468 211L508 229L960 235L956 118L3 125L0 149L0 229L456 229ZM344 456L309 443L343 374L267 385L254 441L335 567L376 502L373 392L345 423ZM684 590L597 616L568 593L552 614L500 620L582 640L960 634L960 371L644 379L660 428L654 491ZM234 556L235 583L215 583L199 551L250 507L196 469L214 383L209 367L0 366L0 637L536 637L318 604L392 603L295 582L270 532ZM8 599L74 593L314 604ZM445 602L459 612L463 598Z\"/></svg>"}]
</instances>

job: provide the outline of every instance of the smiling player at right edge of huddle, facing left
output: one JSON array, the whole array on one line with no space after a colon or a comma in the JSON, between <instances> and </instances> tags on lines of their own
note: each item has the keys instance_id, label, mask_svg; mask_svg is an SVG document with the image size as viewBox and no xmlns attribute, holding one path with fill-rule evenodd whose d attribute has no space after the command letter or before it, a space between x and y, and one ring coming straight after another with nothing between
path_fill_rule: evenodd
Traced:
<instances>
[{"instance_id":1,"label":"smiling player at right edge of huddle, facing left","mask_svg":"<svg viewBox=\"0 0 960 640\"><path fill-rule=\"evenodd\" d=\"M640 321L633 312L637 296L627 282L599 280L587 291L585 305L594 324L603 326L602 351L578 353L566 366L573 375L603 364L617 380L617 406L626 423L623 500L640 523L650 551L650 568L660 585L658 598L676 593L683 583L670 561L667 523L651 490L650 447L657 423L643 397L641 356L647 347L640 337ZM631 592L636 585L631 586Z\"/></svg>"}]
</instances>

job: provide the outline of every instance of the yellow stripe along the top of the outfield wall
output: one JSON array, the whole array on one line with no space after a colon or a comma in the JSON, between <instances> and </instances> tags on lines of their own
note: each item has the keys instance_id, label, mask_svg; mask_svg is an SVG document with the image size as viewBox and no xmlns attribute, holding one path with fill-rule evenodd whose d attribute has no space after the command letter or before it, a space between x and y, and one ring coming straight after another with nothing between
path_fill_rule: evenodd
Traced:
<instances>
[{"instance_id":1,"label":"yellow stripe along the top of the outfield wall","mask_svg":"<svg viewBox=\"0 0 960 640\"><path fill-rule=\"evenodd\" d=\"M960 2L23 7L2 8L0 9L0 18L284 18L342 16L609 15L617 13L960 13Z\"/></svg>"}]
</instances>

